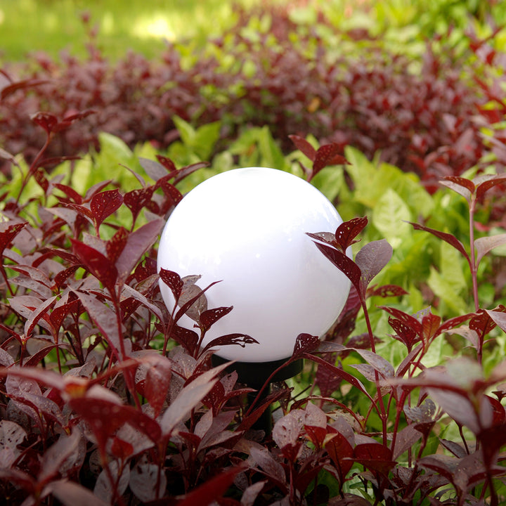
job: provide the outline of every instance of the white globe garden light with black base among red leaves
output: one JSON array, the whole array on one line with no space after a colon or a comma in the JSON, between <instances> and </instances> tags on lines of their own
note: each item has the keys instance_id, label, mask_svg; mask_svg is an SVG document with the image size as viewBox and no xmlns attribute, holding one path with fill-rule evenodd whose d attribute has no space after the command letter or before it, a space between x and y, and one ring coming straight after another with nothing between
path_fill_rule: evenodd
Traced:
<instances>
[{"instance_id":1,"label":"white globe garden light with black base among red leaves","mask_svg":"<svg viewBox=\"0 0 506 506\"><path fill-rule=\"evenodd\" d=\"M259 390L292 356L299 334L325 334L346 303L350 282L306 233L333 232L341 223L317 188L276 169L223 172L181 200L162 233L158 270L201 275L200 288L220 281L205 292L207 306L233 310L212 325L202 346L234 332L258 342L221 346L215 364L235 361L238 381ZM160 290L171 310L171 290L161 281ZM179 320L189 328L194 324L187 316ZM293 361L272 381L301 368L301 361ZM260 423L270 431L269 410Z\"/></svg>"}]
</instances>

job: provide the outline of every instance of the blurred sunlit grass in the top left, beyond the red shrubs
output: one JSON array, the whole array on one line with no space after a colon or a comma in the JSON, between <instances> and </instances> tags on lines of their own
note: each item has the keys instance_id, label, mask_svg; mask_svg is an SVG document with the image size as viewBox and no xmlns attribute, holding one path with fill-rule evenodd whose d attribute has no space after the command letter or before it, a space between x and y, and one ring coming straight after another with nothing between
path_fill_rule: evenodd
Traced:
<instances>
[{"instance_id":1,"label":"blurred sunlit grass in the top left, beyond the red shrubs","mask_svg":"<svg viewBox=\"0 0 506 506\"><path fill-rule=\"evenodd\" d=\"M23 60L33 51L57 56L62 49L84 56L93 27L109 58L129 48L152 58L165 40L205 42L232 19L231 0L0 0L0 60Z\"/></svg>"}]
</instances>

